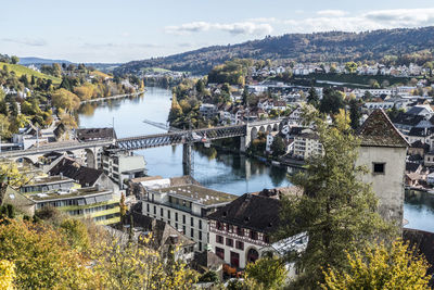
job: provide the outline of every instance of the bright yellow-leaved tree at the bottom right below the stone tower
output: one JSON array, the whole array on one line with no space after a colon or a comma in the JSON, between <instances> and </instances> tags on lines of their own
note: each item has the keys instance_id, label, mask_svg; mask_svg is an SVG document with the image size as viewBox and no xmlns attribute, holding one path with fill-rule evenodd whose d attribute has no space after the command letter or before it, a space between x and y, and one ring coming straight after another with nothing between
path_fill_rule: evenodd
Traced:
<instances>
[{"instance_id":1,"label":"bright yellow-leaved tree at the bottom right below the stone tower","mask_svg":"<svg viewBox=\"0 0 434 290\"><path fill-rule=\"evenodd\" d=\"M397 240L346 253L348 269L328 268L322 289L431 289L426 260Z\"/></svg>"}]
</instances>

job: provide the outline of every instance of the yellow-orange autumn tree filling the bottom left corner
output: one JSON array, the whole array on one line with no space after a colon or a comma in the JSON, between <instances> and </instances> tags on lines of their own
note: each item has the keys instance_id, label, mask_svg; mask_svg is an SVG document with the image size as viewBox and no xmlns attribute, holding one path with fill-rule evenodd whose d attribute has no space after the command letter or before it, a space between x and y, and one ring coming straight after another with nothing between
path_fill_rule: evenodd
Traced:
<instances>
[{"instance_id":1,"label":"yellow-orange autumn tree filling the bottom left corner","mask_svg":"<svg viewBox=\"0 0 434 290\"><path fill-rule=\"evenodd\" d=\"M0 261L15 264L17 289L86 289L90 269L64 237L46 224L0 225Z\"/></svg>"}]
</instances>

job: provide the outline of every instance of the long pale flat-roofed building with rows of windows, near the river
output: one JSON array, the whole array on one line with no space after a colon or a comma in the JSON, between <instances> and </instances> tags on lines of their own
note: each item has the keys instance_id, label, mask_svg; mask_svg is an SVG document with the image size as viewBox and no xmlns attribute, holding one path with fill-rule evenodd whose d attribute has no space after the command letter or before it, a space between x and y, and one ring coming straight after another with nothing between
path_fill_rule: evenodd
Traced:
<instances>
[{"instance_id":1,"label":"long pale flat-roofed building with rows of windows, near the river","mask_svg":"<svg viewBox=\"0 0 434 290\"><path fill-rule=\"evenodd\" d=\"M170 186L170 179L142 182L143 215L174 226L196 242L196 251L208 243L208 217L217 209L237 199L235 196L197 185Z\"/></svg>"}]
</instances>

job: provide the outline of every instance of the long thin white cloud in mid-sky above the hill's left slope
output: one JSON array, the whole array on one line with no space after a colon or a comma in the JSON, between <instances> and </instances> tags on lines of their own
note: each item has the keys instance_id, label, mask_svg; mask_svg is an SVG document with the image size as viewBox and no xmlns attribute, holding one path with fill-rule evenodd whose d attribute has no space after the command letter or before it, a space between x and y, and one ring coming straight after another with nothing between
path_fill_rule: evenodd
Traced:
<instances>
[{"instance_id":1,"label":"long thin white cloud in mid-sky above the hill's left slope","mask_svg":"<svg viewBox=\"0 0 434 290\"><path fill-rule=\"evenodd\" d=\"M169 34L184 35L207 30L222 30L232 35L267 35L272 31L272 26L268 23L239 22L239 23L207 23L192 22L179 26L166 26L165 31Z\"/></svg>"}]
</instances>

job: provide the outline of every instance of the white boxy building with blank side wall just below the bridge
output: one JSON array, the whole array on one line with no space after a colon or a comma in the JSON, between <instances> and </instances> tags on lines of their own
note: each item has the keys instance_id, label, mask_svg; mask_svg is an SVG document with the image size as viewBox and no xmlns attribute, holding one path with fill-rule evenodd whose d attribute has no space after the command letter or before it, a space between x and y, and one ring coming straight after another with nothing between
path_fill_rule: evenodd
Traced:
<instances>
[{"instance_id":1,"label":"white boxy building with blank side wall just below the bridge","mask_svg":"<svg viewBox=\"0 0 434 290\"><path fill-rule=\"evenodd\" d=\"M124 189L127 185L125 180L142 177L146 174L146 162L142 155L133 155L125 152L104 152L101 155L102 169L105 175Z\"/></svg>"}]
</instances>

